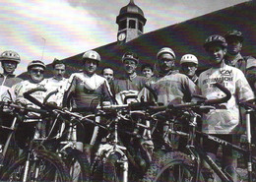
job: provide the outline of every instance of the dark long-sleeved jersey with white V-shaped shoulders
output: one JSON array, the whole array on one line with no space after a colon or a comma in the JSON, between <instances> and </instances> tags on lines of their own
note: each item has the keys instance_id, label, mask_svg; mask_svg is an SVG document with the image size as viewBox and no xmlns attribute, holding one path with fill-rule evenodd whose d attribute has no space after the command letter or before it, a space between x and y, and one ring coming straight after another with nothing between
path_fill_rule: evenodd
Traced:
<instances>
[{"instance_id":1,"label":"dark long-sleeved jersey with white V-shaped shoulders","mask_svg":"<svg viewBox=\"0 0 256 182\"><path fill-rule=\"evenodd\" d=\"M99 103L99 99L112 102L112 94L105 78L94 74L89 77L85 73L72 74L68 80L63 105L67 105L68 97L73 98L73 108L91 107Z\"/></svg>"}]
</instances>

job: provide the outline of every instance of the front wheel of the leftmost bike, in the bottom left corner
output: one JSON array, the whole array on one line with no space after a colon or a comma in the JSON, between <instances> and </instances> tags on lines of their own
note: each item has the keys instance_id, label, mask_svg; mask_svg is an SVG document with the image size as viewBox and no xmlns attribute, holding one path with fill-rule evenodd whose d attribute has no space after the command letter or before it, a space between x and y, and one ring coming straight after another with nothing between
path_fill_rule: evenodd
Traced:
<instances>
[{"instance_id":1,"label":"front wheel of the leftmost bike, in the bottom left corner","mask_svg":"<svg viewBox=\"0 0 256 182\"><path fill-rule=\"evenodd\" d=\"M36 159L30 160L27 181L70 181L68 169L64 162L52 152L34 150ZM23 181L27 154L21 156L3 172L3 181ZM35 175L37 175L35 179Z\"/></svg>"}]
</instances>

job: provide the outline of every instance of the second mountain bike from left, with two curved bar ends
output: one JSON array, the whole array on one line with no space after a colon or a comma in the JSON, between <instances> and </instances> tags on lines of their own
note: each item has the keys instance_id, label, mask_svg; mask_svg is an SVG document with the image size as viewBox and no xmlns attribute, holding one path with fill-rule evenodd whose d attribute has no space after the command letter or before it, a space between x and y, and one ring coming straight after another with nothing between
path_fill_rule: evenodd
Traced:
<instances>
[{"instance_id":1,"label":"second mountain bike from left, with two curved bar ends","mask_svg":"<svg viewBox=\"0 0 256 182\"><path fill-rule=\"evenodd\" d=\"M42 103L38 102L31 95L32 92L38 90L40 89L28 91L25 93L25 98L48 112L47 117L51 125L48 128L48 135L41 145L61 157L69 170L71 181L90 181L90 162L86 153L81 149L78 150L76 127L83 122L95 123L92 118L94 115L83 116L48 103L48 98L57 91L49 92Z\"/></svg>"}]
</instances>

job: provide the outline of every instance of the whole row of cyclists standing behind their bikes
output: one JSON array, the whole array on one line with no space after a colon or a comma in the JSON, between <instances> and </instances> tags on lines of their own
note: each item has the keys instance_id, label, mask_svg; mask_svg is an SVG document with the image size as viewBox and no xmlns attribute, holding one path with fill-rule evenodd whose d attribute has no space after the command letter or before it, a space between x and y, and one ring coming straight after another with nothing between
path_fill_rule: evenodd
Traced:
<instances>
[{"instance_id":1,"label":"whole row of cyclists standing behind their bikes","mask_svg":"<svg viewBox=\"0 0 256 182\"><path fill-rule=\"evenodd\" d=\"M238 30L230 30L224 36L214 34L207 37L204 48L209 55L211 68L199 76L196 75L199 61L193 54L185 54L181 57L178 71L175 69L174 51L169 47L163 47L157 54L158 72L152 65L146 64L142 65L142 76L140 76L136 72L139 66L138 56L133 52L126 52L122 56L125 73L118 79L114 78L114 69L111 67L103 68L102 75L97 75L100 56L96 51L89 50L82 57L83 71L72 74L69 79L64 78L65 63L54 59L53 78L44 79L46 66L42 61L35 60L28 65L29 80L22 81L14 75L15 69L21 62L20 56L8 50L0 57L3 68L3 74L0 75L0 96L2 101L11 99L19 104L37 107L24 97L24 92L44 88L46 92L32 93L34 98L42 101L48 92L57 90L48 101L54 102L59 107L88 113L94 112L99 102L106 105L123 104L126 101L134 101L135 97L140 101L142 96L144 101L163 105L191 101L193 94L201 94L208 99L223 97L224 93L214 86L218 82L231 92L231 98L226 103L218 105L217 109L203 114L202 131L231 143L239 143L239 138L244 134L245 129L242 122L244 112L239 108L238 103L253 100L255 98L253 91L256 91L256 59L240 54L242 43L243 35ZM125 97L129 95L134 98L126 100ZM8 120L10 120L8 112L1 112L0 124L8 126ZM46 135L46 122L42 121L35 126L35 136ZM164 131L164 124L161 131ZM84 148L83 144L94 145L98 140L96 139L98 128L94 125L78 126L76 134L81 151ZM3 143L5 134L2 132L0 135ZM158 146L158 140L152 145ZM164 142L167 140L163 139ZM207 141L204 141L203 145L207 152L211 152L213 158L216 158L219 146ZM233 168L237 166L237 158L233 156L231 150L224 149L223 167L230 166L230 174L235 176Z\"/></svg>"}]
</instances>

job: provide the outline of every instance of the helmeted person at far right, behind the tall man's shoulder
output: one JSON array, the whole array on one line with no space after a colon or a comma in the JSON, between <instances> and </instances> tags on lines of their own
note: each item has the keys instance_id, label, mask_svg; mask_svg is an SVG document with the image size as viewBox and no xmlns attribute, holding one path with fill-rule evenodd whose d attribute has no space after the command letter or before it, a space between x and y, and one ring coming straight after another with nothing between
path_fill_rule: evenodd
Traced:
<instances>
[{"instance_id":1,"label":"helmeted person at far right, behind the tall man's shoulder","mask_svg":"<svg viewBox=\"0 0 256 182\"><path fill-rule=\"evenodd\" d=\"M256 59L252 56L242 56L243 34L239 30L229 30L224 34L227 42L225 63L240 69L248 80L253 91L256 91Z\"/></svg>"}]
</instances>

